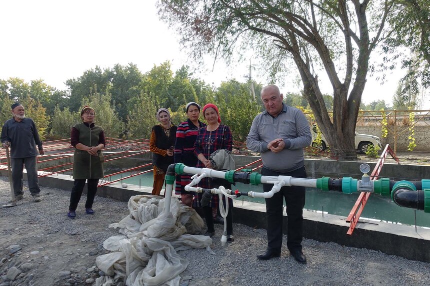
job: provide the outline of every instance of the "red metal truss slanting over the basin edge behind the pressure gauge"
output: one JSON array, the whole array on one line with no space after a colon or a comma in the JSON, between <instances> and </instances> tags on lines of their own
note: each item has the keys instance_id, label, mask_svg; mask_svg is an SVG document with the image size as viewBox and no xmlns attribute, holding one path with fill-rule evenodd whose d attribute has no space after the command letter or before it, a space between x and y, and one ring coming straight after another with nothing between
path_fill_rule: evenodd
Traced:
<instances>
[{"instance_id":1,"label":"red metal truss slanting over the basin edge behind the pressure gauge","mask_svg":"<svg viewBox=\"0 0 430 286\"><path fill-rule=\"evenodd\" d=\"M385 162L386 156L388 154L391 155L391 157L397 162L397 164L400 164L394 151L392 151L391 147L389 147L389 145L386 144L382 154L379 157L379 160L376 163L376 166L373 168L373 171L370 174L370 180L374 181L378 178L379 173L382 170L383 163ZM360 215L363 212L364 206L366 205L369 197L370 197L370 193L366 193L366 192L361 192L360 195L358 196L357 201L355 202L354 206L349 212L349 215L346 217L346 222L349 223L349 229L346 232L346 234L352 235L352 232L354 231L355 226L358 223L358 219L360 218Z\"/></svg>"}]
</instances>

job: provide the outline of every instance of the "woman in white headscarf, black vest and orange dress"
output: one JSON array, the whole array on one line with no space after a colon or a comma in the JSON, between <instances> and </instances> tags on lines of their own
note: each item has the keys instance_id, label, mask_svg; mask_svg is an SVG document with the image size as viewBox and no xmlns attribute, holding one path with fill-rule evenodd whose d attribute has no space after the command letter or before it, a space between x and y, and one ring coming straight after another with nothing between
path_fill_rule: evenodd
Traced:
<instances>
[{"instance_id":1,"label":"woman in white headscarf, black vest and orange dress","mask_svg":"<svg viewBox=\"0 0 430 286\"><path fill-rule=\"evenodd\" d=\"M173 164L173 146L177 127L171 124L170 112L167 109L158 109L156 116L160 124L152 127L149 151L153 153L152 166L154 166L152 195L158 196L164 184L167 167Z\"/></svg>"}]
</instances>

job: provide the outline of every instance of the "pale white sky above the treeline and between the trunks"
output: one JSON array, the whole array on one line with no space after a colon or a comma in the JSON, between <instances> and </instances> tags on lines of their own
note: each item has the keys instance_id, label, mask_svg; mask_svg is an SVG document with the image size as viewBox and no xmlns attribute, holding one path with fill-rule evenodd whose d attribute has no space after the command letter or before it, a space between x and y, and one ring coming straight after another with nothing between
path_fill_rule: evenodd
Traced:
<instances>
[{"instance_id":1,"label":"pale white sky above the treeline and between the trunks","mask_svg":"<svg viewBox=\"0 0 430 286\"><path fill-rule=\"evenodd\" d=\"M180 50L179 36L158 19L156 0L4 0L0 1L0 79L19 77L29 82L43 79L58 89L96 65L107 68L132 62L142 72L169 60L172 70L191 65ZM222 80L244 81L248 60L227 67L207 57L194 75L218 85ZM320 74L322 92L331 93ZM253 72L266 83L266 75ZM391 103L402 72L388 75L383 85L368 78L362 100ZM290 82L279 83L281 92L296 92ZM427 99L428 104L428 99ZM428 107L427 107L428 108Z\"/></svg>"}]
</instances>

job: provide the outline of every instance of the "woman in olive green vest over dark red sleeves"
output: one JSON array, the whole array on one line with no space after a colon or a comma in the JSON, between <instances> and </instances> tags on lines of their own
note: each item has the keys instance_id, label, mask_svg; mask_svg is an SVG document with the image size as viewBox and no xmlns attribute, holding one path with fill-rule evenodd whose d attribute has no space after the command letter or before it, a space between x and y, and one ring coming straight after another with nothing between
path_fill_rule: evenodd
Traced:
<instances>
[{"instance_id":1,"label":"woman in olive green vest over dark red sleeves","mask_svg":"<svg viewBox=\"0 0 430 286\"><path fill-rule=\"evenodd\" d=\"M70 194L70 205L67 216L76 217L76 208L82 195L85 181L87 181L87 195L85 212L92 215L92 203L97 192L98 179L104 177L104 156L101 149L106 142L104 131L100 126L94 124L95 111L89 106L84 106L80 111L82 123L71 128L70 143L75 148L73 154L73 179L74 184Z\"/></svg>"}]
</instances>

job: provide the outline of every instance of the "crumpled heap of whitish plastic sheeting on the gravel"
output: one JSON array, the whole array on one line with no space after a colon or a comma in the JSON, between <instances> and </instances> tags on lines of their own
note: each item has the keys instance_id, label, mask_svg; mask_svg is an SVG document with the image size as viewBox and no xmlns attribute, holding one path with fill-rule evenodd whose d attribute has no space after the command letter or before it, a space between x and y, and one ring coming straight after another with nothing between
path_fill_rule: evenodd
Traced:
<instances>
[{"instance_id":1,"label":"crumpled heap of whitish plastic sheeting on the gravel","mask_svg":"<svg viewBox=\"0 0 430 286\"><path fill-rule=\"evenodd\" d=\"M177 286L188 266L177 251L206 248L213 254L212 239L197 235L204 230L203 220L176 198L171 198L169 213L164 213L164 199L152 195L131 197L128 209L128 216L109 225L123 235L103 242L112 253L96 259L106 274L96 279L96 286Z\"/></svg>"}]
</instances>

